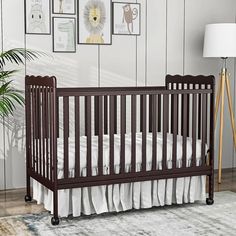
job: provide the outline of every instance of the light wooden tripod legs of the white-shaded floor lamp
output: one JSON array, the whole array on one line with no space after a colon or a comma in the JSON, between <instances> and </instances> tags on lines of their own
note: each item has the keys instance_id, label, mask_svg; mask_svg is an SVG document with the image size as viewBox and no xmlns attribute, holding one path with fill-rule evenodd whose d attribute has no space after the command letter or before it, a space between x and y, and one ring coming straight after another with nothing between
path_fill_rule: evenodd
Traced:
<instances>
[{"instance_id":1,"label":"light wooden tripod legs of the white-shaded floor lamp","mask_svg":"<svg viewBox=\"0 0 236 236\"><path fill-rule=\"evenodd\" d=\"M225 59L226 60L226 59ZM226 68L222 68L220 73L220 83L218 85L218 91L216 95L216 107L215 107L215 127L217 121L217 115L220 105L220 129L219 129L219 153L218 153L218 183L221 183L222 178L222 150L223 150L223 126L224 126L224 92L227 92L228 97L228 106L230 113L230 121L233 133L234 147L236 147L236 129L235 129L235 120L232 106L232 97L230 89L229 74Z\"/></svg>"}]
</instances>

